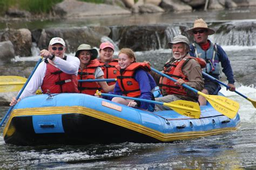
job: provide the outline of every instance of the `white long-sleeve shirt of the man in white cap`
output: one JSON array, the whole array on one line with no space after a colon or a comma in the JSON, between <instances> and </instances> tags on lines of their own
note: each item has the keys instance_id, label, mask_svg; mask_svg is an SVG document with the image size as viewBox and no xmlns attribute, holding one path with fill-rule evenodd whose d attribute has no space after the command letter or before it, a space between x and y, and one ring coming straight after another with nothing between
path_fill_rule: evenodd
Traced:
<instances>
[{"instance_id":1,"label":"white long-sleeve shirt of the man in white cap","mask_svg":"<svg viewBox=\"0 0 256 170\"><path fill-rule=\"evenodd\" d=\"M49 59L48 59L49 60ZM80 65L80 60L75 57L68 55L66 57L66 60L63 60L57 56L55 56L55 59L53 60L54 64L53 66L59 68L66 74L75 74L78 73L78 68ZM49 62L50 64L50 62ZM42 86L44 76L46 72L46 63L43 61L39 64L37 67L35 73L31 77L29 83L27 84L26 88L24 89L22 95L19 98L25 98L31 95L36 94L36 90Z\"/></svg>"}]
</instances>

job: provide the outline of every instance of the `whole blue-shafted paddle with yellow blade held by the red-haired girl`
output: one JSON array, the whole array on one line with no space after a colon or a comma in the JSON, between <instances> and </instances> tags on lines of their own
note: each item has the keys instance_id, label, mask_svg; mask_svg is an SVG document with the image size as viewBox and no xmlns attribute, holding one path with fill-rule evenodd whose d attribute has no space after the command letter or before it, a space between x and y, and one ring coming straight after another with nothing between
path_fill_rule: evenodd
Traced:
<instances>
[{"instance_id":1,"label":"whole blue-shafted paddle with yellow blade held by the red-haired girl","mask_svg":"<svg viewBox=\"0 0 256 170\"><path fill-rule=\"evenodd\" d=\"M187 117L191 117L191 118L199 118L200 114L201 114L199 105L195 102L190 102L190 101L178 100L178 101L174 101L174 102L170 102L170 103L163 103L163 102L158 102L158 101L146 100L143 98L135 98L135 97L127 97L127 96L101 93L98 90L97 90L97 94L101 95L101 96L122 97L122 98L130 99L130 100L140 101L140 102L148 102L148 103L165 105L166 107L169 107L172 110L176 111L178 114L184 115Z\"/></svg>"}]
</instances>

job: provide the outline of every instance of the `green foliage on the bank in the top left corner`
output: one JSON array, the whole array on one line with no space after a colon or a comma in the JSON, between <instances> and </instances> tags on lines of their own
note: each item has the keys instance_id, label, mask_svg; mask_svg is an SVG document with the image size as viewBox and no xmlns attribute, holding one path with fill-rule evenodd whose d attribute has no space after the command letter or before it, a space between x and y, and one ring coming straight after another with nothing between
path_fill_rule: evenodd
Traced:
<instances>
[{"instance_id":1,"label":"green foliage on the bank in the top left corner","mask_svg":"<svg viewBox=\"0 0 256 170\"><path fill-rule=\"evenodd\" d=\"M26 10L31 13L50 12L53 5L63 0L0 0L0 11L5 13L9 8Z\"/></svg>"}]
</instances>

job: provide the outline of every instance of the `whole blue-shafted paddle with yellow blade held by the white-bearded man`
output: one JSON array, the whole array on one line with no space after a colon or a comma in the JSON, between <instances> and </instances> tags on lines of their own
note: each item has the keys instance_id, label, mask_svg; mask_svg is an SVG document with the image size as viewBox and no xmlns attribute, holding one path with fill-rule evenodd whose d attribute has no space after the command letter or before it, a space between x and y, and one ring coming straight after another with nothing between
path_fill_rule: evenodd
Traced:
<instances>
[{"instance_id":1,"label":"whole blue-shafted paddle with yellow blade held by the white-bearded man","mask_svg":"<svg viewBox=\"0 0 256 170\"><path fill-rule=\"evenodd\" d=\"M154 72L160 74L161 76L166 77L167 79L170 79L174 82L177 82L176 79L173 79L172 77L159 72L157 69L154 69L151 67L151 70ZM234 118L235 115L237 115L237 112L239 110L239 103L235 102L227 97L224 96L217 96L217 95L206 95L202 93L201 91L198 91L190 86L187 86L186 84L182 84L183 87L190 89L197 93L198 95L204 96L206 100L212 105L212 107L220 112L221 114L227 116L228 118Z\"/></svg>"}]
</instances>

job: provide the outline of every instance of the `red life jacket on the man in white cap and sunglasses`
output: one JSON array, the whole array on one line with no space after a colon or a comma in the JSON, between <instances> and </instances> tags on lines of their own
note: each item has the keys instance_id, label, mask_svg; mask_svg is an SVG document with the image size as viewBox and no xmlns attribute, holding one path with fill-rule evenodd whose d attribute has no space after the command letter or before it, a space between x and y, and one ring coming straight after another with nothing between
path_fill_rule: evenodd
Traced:
<instances>
[{"instance_id":1,"label":"red life jacket on the man in white cap and sunglasses","mask_svg":"<svg viewBox=\"0 0 256 170\"><path fill-rule=\"evenodd\" d=\"M66 60L66 56L64 57ZM78 93L77 76L75 74L66 74L59 68L51 65L45 60L46 72L41 86L43 94L46 93Z\"/></svg>"}]
</instances>

